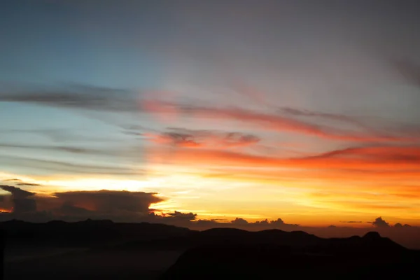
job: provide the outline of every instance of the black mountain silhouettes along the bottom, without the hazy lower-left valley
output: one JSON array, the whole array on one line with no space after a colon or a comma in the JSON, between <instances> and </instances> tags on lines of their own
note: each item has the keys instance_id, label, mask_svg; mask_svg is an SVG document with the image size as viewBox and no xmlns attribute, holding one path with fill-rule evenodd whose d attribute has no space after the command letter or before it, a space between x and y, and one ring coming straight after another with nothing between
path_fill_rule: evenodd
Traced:
<instances>
[{"instance_id":1,"label":"black mountain silhouettes along the bottom, without the hazy lower-left valley","mask_svg":"<svg viewBox=\"0 0 420 280\"><path fill-rule=\"evenodd\" d=\"M82 221L0 223L6 246L75 246L101 252L184 252L162 279L405 278L420 265L419 251L369 232L320 238L302 231L235 228L195 231L153 223ZM135 254L134 254L135 255Z\"/></svg>"}]
</instances>

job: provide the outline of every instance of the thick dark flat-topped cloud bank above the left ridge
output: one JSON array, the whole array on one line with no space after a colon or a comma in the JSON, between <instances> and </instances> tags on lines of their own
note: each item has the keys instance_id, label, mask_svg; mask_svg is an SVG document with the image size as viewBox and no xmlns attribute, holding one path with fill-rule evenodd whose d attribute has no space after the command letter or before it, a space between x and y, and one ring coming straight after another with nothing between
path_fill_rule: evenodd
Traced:
<instances>
[{"instance_id":1,"label":"thick dark flat-topped cloud bank above the left ridge","mask_svg":"<svg viewBox=\"0 0 420 280\"><path fill-rule=\"evenodd\" d=\"M10 180L8 180L10 181ZM16 183L20 180L13 179ZM140 221L151 212L151 204L162 202L157 193L129 192L124 190L99 190L58 192L51 195L37 195L15 186L0 185L10 195L1 196L0 208L18 218L32 218L34 215L45 219L80 221L87 218L107 218L113 221ZM190 214L184 214L184 218ZM181 217L181 213L176 212Z\"/></svg>"}]
</instances>

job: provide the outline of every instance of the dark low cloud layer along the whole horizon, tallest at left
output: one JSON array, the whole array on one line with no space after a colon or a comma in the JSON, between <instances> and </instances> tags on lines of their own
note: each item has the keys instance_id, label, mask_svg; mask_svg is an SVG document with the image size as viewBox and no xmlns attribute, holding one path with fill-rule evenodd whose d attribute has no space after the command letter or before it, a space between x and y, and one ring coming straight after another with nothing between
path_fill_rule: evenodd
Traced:
<instances>
[{"instance_id":1,"label":"dark low cloud layer along the whole horizon, tallest at left","mask_svg":"<svg viewBox=\"0 0 420 280\"><path fill-rule=\"evenodd\" d=\"M84 221L90 218L128 223L165 223L193 230L210 228L239 228L251 231L269 229L302 230L319 237L363 236L367 232L377 231L382 236L390 237L403 246L420 248L419 227L402 225L401 223L390 225L381 217L365 223L366 226L361 228L335 225L308 227L286 223L281 218L272 221L265 219L252 222L239 217L232 219L232 221L202 220L197 218L197 214L180 211L173 211L164 215L155 214L153 212L155 210L150 208L151 204L162 201L162 198L157 197L155 193L99 190L55 193L50 197L45 197L14 186L2 185L1 188L8 191L10 195L0 197L0 208L5 209L6 207L6 210L10 210L11 213L0 212L0 221L18 219L31 222L52 220L71 222ZM341 223L359 223L359 221Z\"/></svg>"}]
</instances>

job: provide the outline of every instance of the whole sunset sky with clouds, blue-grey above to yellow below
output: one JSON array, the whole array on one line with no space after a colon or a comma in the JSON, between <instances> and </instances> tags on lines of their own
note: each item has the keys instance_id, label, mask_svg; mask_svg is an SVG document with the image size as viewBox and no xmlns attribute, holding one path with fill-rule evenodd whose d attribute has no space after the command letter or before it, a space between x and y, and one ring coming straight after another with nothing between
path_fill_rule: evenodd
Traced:
<instances>
[{"instance_id":1,"label":"whole sunset sky with clouds, blue-grey above to yellow below","mask_svg":"<svg viewBox=\"0 0 420 280\"><path fill-rule=\"evenodd\" d=\"M420 225L419 8L2 1L0 208Z\"/></svg>"}]
</instances>

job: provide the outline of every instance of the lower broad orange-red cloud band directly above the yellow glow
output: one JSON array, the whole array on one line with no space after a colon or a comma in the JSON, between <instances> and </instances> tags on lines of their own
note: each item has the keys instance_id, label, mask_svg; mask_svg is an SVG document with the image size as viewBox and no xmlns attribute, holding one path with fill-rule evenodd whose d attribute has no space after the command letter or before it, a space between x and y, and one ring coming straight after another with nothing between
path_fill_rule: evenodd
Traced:
<instances>
[{"instance_id":1,"label":"lower broad orange-red cloud band directly above the yellow glow","mask_svg":"<svg viewBox=\"0 0 420 280\"><path fill-rule=\"evenodd\" d=\"M150 148L154 156L169 153L165 148ZM169 160L169 159L168 159ZM416 170L420 162L419 146L372 146L330 151L318 155L295 158L278 158L235 151L179 148L172 151L170 160L178 165L220 165L231 167L276 167L298 169L350 169L354 170Z\"/></svg>"}]
</instances>

